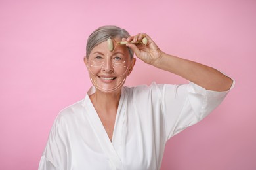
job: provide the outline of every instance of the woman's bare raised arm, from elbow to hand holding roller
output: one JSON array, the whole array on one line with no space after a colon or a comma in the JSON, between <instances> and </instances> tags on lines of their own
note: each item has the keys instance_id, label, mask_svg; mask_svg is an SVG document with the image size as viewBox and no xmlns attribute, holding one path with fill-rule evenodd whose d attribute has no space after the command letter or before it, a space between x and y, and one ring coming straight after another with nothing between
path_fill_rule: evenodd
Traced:
<instances>
[{"instance_id":1,"label":"woman's bare raised arm, from elbow to hand holding roller","mask_svg":"<svg viewBox=\"0 0 256 170\"><path fill-rule=\"evenodd\" d=\"M226 91L232 85L232 80L223 73L212 67L190 61L188 59L179 58L162 52L152 39L146 34L137 34L125 39L127 42L142 41L146 37L148 44L126 44L136 54L136 56L145 63L154 65L159 69L169 71L175 75L179 75L190 82L194 82L207 90Z\"/></svg>"}]
</instances>

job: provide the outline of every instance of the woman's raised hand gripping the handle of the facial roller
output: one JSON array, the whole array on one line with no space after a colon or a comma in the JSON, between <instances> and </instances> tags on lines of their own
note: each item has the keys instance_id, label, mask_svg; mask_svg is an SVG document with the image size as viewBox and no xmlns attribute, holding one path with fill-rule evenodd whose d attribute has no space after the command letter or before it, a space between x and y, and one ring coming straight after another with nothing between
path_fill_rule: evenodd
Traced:
<instances>
[{"instance_id":1,"label":"woman's raised hand gripping the handle of the facial roller","mask_svg":"<svg viewBox=\"0 0 256 170\"><path fill-rule=\"evenodd\" d=\"M163 52L158 48L156 43L148 36L146 33L139 33L135 36L128 37L127 39L122 39L122 41L127 41L127 42L137 42L137 41L142 41L142 39L146 37L148 39L148 43L146 45L144 44L131 44L128 43L126 46L131 48L133 52L135 52L135 55L137 58L140 58L142 61L145 63L148 63L150 65L154 65L156 60L161 58L161 55Z\"/></svg>"}]
</instances>

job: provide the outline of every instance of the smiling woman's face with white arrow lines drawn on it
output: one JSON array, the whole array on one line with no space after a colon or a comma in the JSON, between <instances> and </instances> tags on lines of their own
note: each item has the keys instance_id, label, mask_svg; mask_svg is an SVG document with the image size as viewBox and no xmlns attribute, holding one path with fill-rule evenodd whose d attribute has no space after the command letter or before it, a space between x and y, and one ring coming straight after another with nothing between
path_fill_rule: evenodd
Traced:
<instances>
[{"instance_id":1,"label":"smiling woman's face with white arrow lines drawn on it","mask_svg":"<svg viewBox=\"0 0 256 170\"><path fill-rule=\"evenodd\" d=\"M120 39L112 40L114 46L118 41ZM135 58L131 59L127 46L117 45L110 52L107 41L95 46L89 58L85 58L91 82L95 88L106 93L121 90L134 64Z\"/></svg>"}]
</instances>

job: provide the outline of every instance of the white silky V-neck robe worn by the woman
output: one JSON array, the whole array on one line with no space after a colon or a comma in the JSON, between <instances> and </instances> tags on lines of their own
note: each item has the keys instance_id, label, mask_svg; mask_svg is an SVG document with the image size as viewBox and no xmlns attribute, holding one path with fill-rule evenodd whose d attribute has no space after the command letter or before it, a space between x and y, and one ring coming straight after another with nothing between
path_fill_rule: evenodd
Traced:
<instances>
[{"instance_id":1,"label":"white silky V-neck robe worn by the woman","mask_svg":"<svg viewBox=\"0 0 256 170\"><path fill-rule=\"evenodd\" d=\"M39 170L160 169L167 140L202 120L228 92L192 82L123 87L110 141L89 99L91 88L85 99L58 114Z\"/></svg>"}]
</instances>

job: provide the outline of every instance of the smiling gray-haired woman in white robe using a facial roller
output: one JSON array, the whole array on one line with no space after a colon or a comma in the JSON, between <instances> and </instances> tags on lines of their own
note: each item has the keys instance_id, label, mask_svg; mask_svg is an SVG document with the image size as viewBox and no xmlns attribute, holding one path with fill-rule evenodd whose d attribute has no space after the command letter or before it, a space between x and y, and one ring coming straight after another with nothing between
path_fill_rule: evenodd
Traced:
<instances>
[{"instance_id":1,"label":"smiling gray-haired woman in white robe using a facial roller","mask_svg":"<svg viewBox=\"0 0 256 170\"><path fill-rule=\"evenodd\" d=\"M124 87L133 52L189 84ZM93 87L56 118L39 169L160 169L167 140L207 116L234 84L216 69L165 54L146 34L130 36L116 26L89 36L84 61Z\"/></svg>"}]
</instances>

